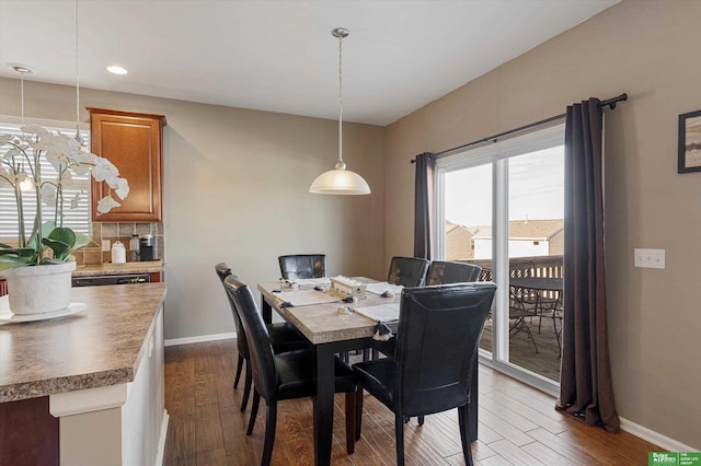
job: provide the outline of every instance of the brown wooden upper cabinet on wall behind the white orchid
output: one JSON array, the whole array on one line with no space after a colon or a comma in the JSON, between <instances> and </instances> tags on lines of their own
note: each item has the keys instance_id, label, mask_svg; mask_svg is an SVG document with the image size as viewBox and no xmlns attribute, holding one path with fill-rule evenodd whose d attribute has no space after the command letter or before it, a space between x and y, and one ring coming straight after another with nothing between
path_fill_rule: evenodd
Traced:
<instances>
[{"instance_id":1,"label":"brown wooden upper cabinet on wall behind the white orchid","mask_svg":"<svg viewBox=\"0 0 701 466\"><path fill-rule=\"evenodd\" d=\"M112 162L119 176L129 183L126 199L113 197L119 207L107 213L97 212L97 201L108 186L92 179L93 222L162 221L163 115L88 107L92 152Z\"/></svg>"}]
</instances>

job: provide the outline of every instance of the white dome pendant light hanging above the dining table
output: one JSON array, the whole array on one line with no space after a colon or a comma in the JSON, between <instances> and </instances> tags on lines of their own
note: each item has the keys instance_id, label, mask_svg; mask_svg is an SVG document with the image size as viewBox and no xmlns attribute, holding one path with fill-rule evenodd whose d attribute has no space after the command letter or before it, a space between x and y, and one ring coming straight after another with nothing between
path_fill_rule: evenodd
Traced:
<instances>
[{"instance_id":1,"label":"white dome pendant light hanging above the dining table","mask_svg":"<svg viewBox=\"0 0 701 466\"><path fill-rule=\"evenodd\" d=\"M326 195L366 195L370 194L370 187L363 176L346 170L343 161L343 38L349 32L344 27L336 27L331 32L338 38L338 161L334 170L322 173L314 179L309 193Z\"/></svg>"}]
</instances>

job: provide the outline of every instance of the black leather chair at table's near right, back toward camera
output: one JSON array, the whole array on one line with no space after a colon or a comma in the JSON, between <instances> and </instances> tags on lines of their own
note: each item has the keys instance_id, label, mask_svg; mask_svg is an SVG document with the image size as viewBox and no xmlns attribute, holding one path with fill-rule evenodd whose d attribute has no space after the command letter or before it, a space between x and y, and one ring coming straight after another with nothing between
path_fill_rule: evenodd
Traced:
<instances>
[{"instance_id":1,"label":"black leather chair at table's near right, back toward camera","mask_svg":"<svg viewBox=\"0 0 701 466\"><path fill-rule=\"evenodd\" d=\"M472 465L468 406L480 335L496 286L492 282L405 288L394 357L364 361L353 370L358 401L365 389L394 412L397 464L404 464L404 419L458 408L462 454ZM357 406L361 412L361 406ZM361 416L357 419L359 435Z\"/></svg>"}]
</instances>

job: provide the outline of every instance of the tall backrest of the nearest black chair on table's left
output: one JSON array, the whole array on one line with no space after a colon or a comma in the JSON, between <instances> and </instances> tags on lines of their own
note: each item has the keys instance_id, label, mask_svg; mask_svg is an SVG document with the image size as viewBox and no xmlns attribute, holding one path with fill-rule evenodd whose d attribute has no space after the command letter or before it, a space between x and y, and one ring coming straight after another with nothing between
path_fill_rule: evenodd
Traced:
<instances>
[{"instance_id":1,"label":"tall backrest of the nearest black chair on table's left","mask_svg":"<svg viewBox=\"0 0 701 466\"><path fill-rule=\"evenodd\" d=\"M253 299L253 293L251 293L249 287L233 276L227 277L223 286L241 315L241 323L249 341L249 351L251 352L251 370L255 389L266 403L276 400L279 384L275 353L273 352L273 345L271 345L271 337L263 322L263 316Z\"/></svg>"}]
</instances>

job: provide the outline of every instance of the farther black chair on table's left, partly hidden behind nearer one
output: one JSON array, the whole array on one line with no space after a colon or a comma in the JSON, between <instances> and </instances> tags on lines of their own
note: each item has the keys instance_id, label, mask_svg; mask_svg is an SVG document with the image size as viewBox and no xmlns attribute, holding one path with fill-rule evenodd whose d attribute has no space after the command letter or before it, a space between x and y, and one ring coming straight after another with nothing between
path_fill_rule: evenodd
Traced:
<instances>
[{"instance_id":1,"label":"farther black chair on table's left, partly hidden behind nearer one","mask_svg":"<svg viewBox=\"0 0 701 466\"><path fill-rule=\"evenodd\" d=\"M215 271L217 272L217 276L219 276L222 284L227 277L235 277L235 273L233 273L233 271L225 263L217 264L215 266ZM233 300L231 300L231 296L229 296L229 293L226 294L227 300L229 301L229 306L231 307L233 325L237 330L237 350L239 352L239 360L237 362L237 375L233 381L234 388L239 386L239 380L241 378L243 363L245 362L245 382L243 384L243 398L241 399L241 412L243 412L245 411L245 407L249 404L251 385L253 381L251 373L251 353L249 351L249 342L246 339L245 329L241 324L239 311L237 310ZM287 323L267 324L267 331L275 352L294 351L298 349L309 348L309 343L307 342L307 339L303 337L303 335L301 335L299 331L297 331L297 329L295 329L295 327L290 326Z\"/></svg>"}]
</instances>

